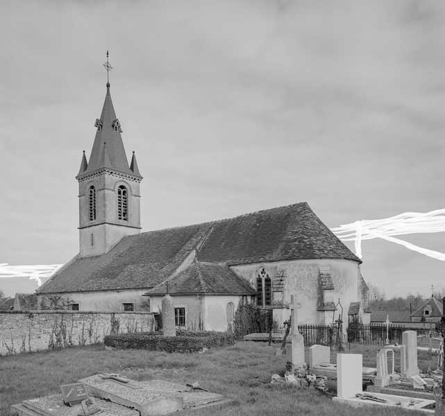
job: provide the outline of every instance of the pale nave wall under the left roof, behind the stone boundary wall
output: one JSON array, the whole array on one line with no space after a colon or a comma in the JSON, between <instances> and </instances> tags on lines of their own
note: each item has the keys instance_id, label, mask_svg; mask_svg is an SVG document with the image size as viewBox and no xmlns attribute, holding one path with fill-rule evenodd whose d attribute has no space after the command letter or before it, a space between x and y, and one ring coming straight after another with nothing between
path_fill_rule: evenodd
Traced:
<instances>
[{"instance_id":1,"label":"pale nave wall under the left roof, behind the stone boundary wall","mask_svg":"<svg viewBox=\"0 0 445 416\"><path fill-rule=\"evenodd\" d=\"M124 303L133 303L134 311L144 311L144 302L148 299L142 297L146 289L132 289L127 291L96 291L96 292L67 292L61 293L65 300L72 300L79 304L80 311L124 311ZM45 295L37 295L37 304L42 309L42 300Z\"/></svg>"}]
</instances>

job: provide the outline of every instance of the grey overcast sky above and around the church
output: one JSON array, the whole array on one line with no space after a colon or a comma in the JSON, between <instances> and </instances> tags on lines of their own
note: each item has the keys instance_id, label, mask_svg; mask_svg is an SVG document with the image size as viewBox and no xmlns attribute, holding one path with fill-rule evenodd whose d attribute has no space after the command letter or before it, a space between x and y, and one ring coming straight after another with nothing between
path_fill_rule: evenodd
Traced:
<instances>
[{"instance_id":1,"label":"grey overcast sky above and around the church","mask_svg":"<svg viewBox=\"0 0 445 416\"><path fill-rule=\"evenodd\" d=\"M0 13L0 263L78 252L74 176L107 49L144 231L301 201L328 227L445 207L442 1L1 1ZM445 252L444 233L401 238ZM387 295L445 287L442 261L377 240L362 252Z\"/></svg>"}]
</instances>

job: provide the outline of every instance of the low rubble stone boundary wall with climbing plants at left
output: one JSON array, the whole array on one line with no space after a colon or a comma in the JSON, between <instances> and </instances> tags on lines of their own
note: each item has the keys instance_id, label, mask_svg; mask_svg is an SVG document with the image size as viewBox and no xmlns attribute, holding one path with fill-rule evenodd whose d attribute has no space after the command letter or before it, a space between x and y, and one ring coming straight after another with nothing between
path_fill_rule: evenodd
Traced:
<instances>
[{"instance_id":1,"label":"low rubble stone boundary wall with climbing plants at left","mask_svg":"<svg viewBox=\"0 0 445 416\"><path fill-rule=\"evenodd\" d=\"M0 311L0 356L101 343L110 333L155 326L152 312Z\"/></svg>"}]
</instances>

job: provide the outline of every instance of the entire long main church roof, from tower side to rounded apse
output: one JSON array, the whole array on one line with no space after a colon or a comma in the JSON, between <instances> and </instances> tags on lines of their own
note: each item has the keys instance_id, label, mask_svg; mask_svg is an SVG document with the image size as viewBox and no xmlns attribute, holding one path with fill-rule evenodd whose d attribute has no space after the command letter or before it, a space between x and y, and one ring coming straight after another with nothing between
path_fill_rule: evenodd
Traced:
<instances>
[{"instance_id":1,"label":"entire long main church roof, from tower side to rounded apse","mask_svg":"<svg viewBox=\"0 0 445 416\"><path fill-rule=\"evenodd\" d=\"M226 266L291 259L361 260L330 232L307 202L212 223L124 237L96 257L76 257L37 293L151 289L194 249L205 263Z\"/></svg>"}]
</instances>

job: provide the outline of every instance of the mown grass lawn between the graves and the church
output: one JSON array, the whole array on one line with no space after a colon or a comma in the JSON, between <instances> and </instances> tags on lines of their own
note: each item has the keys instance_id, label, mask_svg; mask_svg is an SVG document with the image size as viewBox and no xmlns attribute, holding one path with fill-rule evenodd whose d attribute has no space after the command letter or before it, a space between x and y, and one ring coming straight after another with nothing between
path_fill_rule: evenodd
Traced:
<instances>
[{"instance_id":1,"label":"mown grass lawn between the graves and the church","mask_svg":"<svg viewBox=\"0 0 445 416\"><path fill-rule=\"evenodd\" d=\"M350 408L309 388L271 385L271 375L283 375L285 370L285 356L275 356L277 347L278 344L268 347L267 343L238 342L204 354L167 354L139 349L106 351L103 345L92 345L0 357L0 416L9 415L11 404L58 393L61 384L103 372L117 372L135 380L198 381L201 387L235 400L235 404L219 410L196 412L197 416L423 415L395 408ZM344 352L364 354L363 365L375 367L379 348L353 345L351 349L346 346ZM331 354L333 362L336 354L337 351ZM419 354L422 370L428 367L427 360L428 355Z\"/></svg>"}]
</instances>

